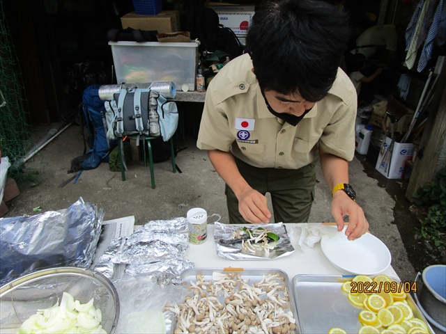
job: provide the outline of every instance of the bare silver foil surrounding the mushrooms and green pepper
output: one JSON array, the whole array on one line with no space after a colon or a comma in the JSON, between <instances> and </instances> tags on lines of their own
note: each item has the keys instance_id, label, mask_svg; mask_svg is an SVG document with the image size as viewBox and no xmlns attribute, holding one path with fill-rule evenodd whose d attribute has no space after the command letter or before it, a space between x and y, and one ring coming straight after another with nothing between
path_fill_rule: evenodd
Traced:
<instances>
[{"instance_id":1,"label":"bare silver foil surrounding the mushrooms and green pepper","mask_svg":"<svg viewBox=\"0 0 446 334\"><path fill-rule=\"evenodd\" d=\"M268 228L271 232L279 236L279 240L272 250L267 252L265 250L256 250L256 253L249 253L243 249L241 241L233 244L225 242L234 239L233 234L240 229L240 226L215 223L214 240L217 245L217 255L229 260L265 260L284 257L294 253L295 249L291 244L283 223L256 224L248 228Z\"/></svg>"}]
</instances>

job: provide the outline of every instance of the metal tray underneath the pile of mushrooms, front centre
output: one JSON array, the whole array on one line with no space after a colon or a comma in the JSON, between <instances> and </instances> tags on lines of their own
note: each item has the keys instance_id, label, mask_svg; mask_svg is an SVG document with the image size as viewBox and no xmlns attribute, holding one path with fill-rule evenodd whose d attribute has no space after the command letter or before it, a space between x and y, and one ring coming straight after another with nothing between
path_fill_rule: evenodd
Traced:
<instances>
[{"instance_id":1,"label":"metal tray underneath the pile of mushrooms, front centre","mask_svg":"<svg viewBox=\"0 0 446 334\"><path fill-rule=\"evenodd\" d=\"M201 274L204 276L206 281L212 280L213 273L236 273L240 274L243 280L249 280L249 285L253 285L254 283L259 283L263 276L269 275L270 273L280 273L281 276L284 277L284 285L289 293L289 309L285 311L291 310L293 312L294 318L296 319L296 329L292 331L292 333L300 334L299 324L298 324L298 315L295 308L295 301L293 297L291 282L289 280L288 275L282 271L281 269L243 269L243 268L223 268L223 269L187 269L181 273L180 277L190 285L191 282L197 282L196 276L197 274ZM283 292L280 292L280 295L283 296ZM190 292L190 296L192 296L192 292ZM220 302L224 302L223 296L219 296ZM174 329L176 328L176 319L174 317L169 317L166 321L166 330L167 333L174 333Z\"/></svg>"}]
</instances>

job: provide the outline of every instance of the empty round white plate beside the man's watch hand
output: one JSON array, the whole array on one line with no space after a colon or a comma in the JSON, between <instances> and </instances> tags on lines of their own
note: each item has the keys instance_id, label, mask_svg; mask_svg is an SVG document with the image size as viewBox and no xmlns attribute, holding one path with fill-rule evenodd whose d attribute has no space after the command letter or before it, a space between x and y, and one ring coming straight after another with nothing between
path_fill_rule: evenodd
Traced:
<instances>
[{"instance_id":1,"label":"empty round white plate beside the man's watch hand","mask_svg":"<svg viewBox=\"0 0 446 334\"><path fill-rule=\"evenodd\" d=\"M392 255L383 241L370 233L349 241L345 230L321 239L322 251L335 268L345 273L374 276L390 266Z\"/></svg>"}]
</instances>

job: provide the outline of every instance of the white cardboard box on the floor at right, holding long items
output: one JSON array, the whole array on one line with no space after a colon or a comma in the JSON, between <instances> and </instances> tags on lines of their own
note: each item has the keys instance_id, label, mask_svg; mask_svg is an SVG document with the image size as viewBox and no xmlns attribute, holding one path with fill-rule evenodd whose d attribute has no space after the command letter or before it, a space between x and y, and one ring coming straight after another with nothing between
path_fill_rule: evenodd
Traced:
<instances>
[{"instance_id":1,"label":"white cardboard box on the floor at right, holding long items","mask_svg":"<svg viewBox=\"0 0 446 334\"><path fill-rule=\"evenodd\" d=\"M392 139L386 137L384 153L378 154L375 169L387 177L387 179L401 179L406 161L410 161L413 158L415 145L412 143L394 142L393 150L390 152L391 143Z\"/></svg>"}]
</instances>

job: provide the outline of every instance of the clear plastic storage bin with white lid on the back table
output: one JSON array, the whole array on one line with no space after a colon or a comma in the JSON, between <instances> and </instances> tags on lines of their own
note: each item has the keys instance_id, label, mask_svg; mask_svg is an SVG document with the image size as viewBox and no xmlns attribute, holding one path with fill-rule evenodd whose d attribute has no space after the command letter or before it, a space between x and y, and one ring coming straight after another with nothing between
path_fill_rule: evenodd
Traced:
<instances>
[{"instance_id":1,"label":"clear plastic storage bin with white lid on the back table","mask_svg":"<svg viewBox=\"0 0 446 334\"><path fill-rule=\"evenodd\" d=\"M195 90L197 42L109 42L118 84L173 81Z\"/></svg>"}]
</instances>

